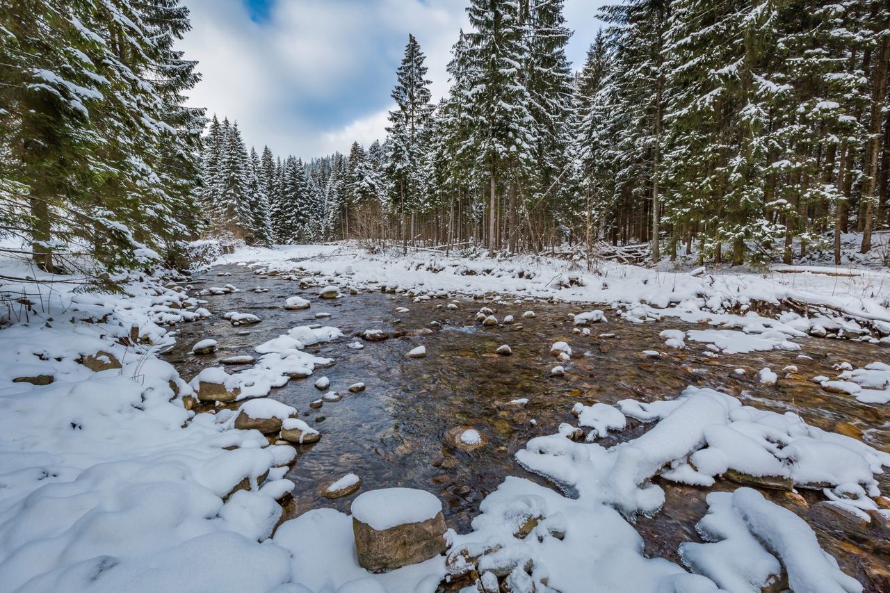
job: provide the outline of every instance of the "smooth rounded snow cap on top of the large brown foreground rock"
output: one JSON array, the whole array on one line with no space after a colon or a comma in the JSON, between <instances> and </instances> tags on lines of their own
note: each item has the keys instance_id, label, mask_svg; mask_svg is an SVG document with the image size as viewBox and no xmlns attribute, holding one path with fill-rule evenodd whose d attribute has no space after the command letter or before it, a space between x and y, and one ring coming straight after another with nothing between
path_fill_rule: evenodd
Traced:
<instances>
[{"instance_id":1,"label":"smooth rounded snow cap on top of the large brown foreground rock","mask_svg":"<svg viewBox=\"0 0 890 593\"><path fill-rule=\"evenodd\" d=\"M478 436L478 433L476 433ZM382 488L361 493L352 501L352 516L376 531L423 523L441 513L434 494L414 488Z\"/></svg>"}]
</instances>

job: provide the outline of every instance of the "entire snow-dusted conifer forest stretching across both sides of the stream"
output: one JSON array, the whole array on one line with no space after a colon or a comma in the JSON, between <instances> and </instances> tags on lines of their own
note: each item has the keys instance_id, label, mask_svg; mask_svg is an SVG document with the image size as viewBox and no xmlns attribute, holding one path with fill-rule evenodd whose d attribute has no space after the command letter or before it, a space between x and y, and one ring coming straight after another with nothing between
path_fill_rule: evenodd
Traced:
<instances>
[{"instance_id":1,"label":"entire snow-dusted conifer forest stretching across both sides of the stream","mask_svg":"<svg viewBox=\"0 0 890 593\"><path fill-rule=\"evenodd\" d=\"M2 12L0 205L45 270L200 234L732 264L833 242L840 263L843 233L865 253L890 220L881 2L627 0L573 71L562 0L472 0L448 95L409 35L386 137L321 158L182 106L178 0L23 4Z\"/></svg>"}]
</instances>

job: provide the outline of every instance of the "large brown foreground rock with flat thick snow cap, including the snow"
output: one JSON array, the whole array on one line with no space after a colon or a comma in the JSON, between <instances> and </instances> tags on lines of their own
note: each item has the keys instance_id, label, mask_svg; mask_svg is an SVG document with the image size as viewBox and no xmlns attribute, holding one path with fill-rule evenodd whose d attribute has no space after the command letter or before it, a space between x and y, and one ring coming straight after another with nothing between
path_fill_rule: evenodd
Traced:
<instances>
[{"instance_id":1,"label":"large brown foreground rock with flat thick snow cap, including the snow","mask_svg":"<svg viewBox=\"0 0 890 593\"><path fill-rule=\"evenodd\" d=\"M415 565L448 547L441 502L427 491L384 488L352 501L359 565L379 573Z\"/></svg>"}]
</instances>

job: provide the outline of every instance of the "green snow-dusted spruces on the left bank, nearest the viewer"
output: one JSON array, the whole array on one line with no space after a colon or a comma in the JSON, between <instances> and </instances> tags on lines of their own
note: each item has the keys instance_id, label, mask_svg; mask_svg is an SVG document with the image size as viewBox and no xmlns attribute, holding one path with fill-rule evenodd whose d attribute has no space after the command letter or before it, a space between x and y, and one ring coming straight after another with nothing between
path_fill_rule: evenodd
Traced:
<instances>
[{"instance_id":1,"label":"green snow-dusted spruces on the left bank, nearest the viewer","mask_svg":"<svg viewBox=\"0 0 890 593\"><path fill-rule=\"evenodd\" d=\"M94 275L181 251L206 123L182 106L189 28L179 0L3 3L0 250Z\"/></svg>"}]
</instances>

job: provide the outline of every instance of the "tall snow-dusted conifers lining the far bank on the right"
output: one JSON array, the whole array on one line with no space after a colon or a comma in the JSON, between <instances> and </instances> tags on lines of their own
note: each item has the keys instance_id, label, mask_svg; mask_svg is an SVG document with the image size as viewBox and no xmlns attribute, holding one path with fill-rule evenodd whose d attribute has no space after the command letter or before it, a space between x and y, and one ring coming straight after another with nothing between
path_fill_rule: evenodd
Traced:
<instances>
[{"instance_id":1,"label":"tall snow-dusted conifers lining the far bank on the right","mask_svg":"<svg viewBox=\"0 0 890 593\"><path fill-rule=\"evenodd\" d=\"M448 96L431 104L409 37L385 142L328 158L317 239L651 242L740 264L833 237L840 263L841 233L865 252L886 226L886 3L627 0L578 75L562 0L467 11Z\"/></svg>"}]
</instances>

